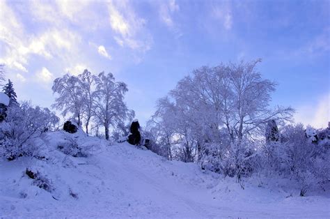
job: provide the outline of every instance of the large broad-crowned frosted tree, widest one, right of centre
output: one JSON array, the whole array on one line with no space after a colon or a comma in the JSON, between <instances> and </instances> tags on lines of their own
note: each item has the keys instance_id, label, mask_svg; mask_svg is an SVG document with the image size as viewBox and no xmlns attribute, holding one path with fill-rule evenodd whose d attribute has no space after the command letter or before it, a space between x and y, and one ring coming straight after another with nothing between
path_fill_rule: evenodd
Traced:
<instances>
[{"instance_id":1,"label":"large broad-crowned frosted tree, widest one, right of centre","mask_svg":"<svg viewBox=\"0 0 330 219\"><path fill-rule=\"evenodd\" d=\"M211 145L220 146L222 153L244 151L239 149L240 142L264 135L267 121L288 120L293 112L290 107L269 107L276 84L262 79L256 69L259 62L221 63L194 70L168 94L166 105L172 107L157 105L155 118L162 126L172 127L171 138L184 136L182 146L190 145L197 160ZM173 123L164 122L173 119Z\"/></svg>"}]
</instances>

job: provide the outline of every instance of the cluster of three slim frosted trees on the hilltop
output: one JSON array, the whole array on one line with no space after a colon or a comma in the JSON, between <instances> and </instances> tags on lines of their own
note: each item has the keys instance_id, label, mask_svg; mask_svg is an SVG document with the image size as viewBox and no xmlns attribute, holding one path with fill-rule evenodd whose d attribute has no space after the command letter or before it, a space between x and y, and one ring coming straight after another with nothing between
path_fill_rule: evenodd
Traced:
<instances>
[{"instance_id":1,"label":"cluster of three slim frosted trees on the hilltop","mask_svg":"<svg viewBox=\"0 0 330 219\"><path fill-rule=\"evenodd\" d=\"M109 139L109 129L123 126L134 111L128 110L124 102L125 93L128 91L124 82L116 82L111 73L93 75L87 69L77 77L66 74L56 78L52 86L57 94L52 105L56 110L61 110L63 116L72 114L79 126L84 123L86 134L104 127L106 139Z\"/></svg>"}]
</instances>

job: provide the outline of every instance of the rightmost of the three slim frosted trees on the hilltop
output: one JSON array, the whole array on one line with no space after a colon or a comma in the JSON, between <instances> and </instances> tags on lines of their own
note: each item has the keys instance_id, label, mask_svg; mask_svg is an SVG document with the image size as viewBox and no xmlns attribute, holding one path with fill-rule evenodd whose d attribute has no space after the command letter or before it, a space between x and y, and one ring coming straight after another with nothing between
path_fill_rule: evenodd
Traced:
<instances>
[{"instance_id":1,"label":"rightmost of the three slim frosted trees on the hilltop","mask_svg":"<svg viewBox=\"0 0 330 219\"><path fill-rule=\"evenodd\" d=\"M125 120L127 106L124 102L124 95L128 91L124 82L116 82L111 73L104 72L94 77L95 90L95 123L104 126L105 138L109 139L109 128L113 128Z\"/></svg>"}]
</instances>

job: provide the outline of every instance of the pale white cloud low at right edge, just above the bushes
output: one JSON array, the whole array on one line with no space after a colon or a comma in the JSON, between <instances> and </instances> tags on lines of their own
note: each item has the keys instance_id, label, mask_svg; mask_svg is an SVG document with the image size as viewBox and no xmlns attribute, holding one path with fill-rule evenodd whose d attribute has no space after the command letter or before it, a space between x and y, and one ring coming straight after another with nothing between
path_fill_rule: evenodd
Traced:
<instances>
[{"instance_id":1,"label":"pale white cloud low at right edge, just above the bushes","mask_svg":"<svg viewBox=\"0 0 330 219\"><path fill-rule=\"evenodd\" d=\"M311 125L314 128L326 128L330 121L329 93L322 96L316 105L301 105L297 108L294 121L304 123L305 126Z\"/></svg>"}]
</instances>

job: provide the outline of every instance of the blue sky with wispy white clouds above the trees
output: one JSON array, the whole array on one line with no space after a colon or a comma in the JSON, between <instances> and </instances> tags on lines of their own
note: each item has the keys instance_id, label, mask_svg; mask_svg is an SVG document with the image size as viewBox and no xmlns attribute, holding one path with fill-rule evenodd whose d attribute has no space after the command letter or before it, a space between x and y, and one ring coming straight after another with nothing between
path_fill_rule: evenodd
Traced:
<instances>
[{"instance_id":1,"label":"blue sky with wispy white clouds above the trees","mask_svg":"<svg viewBox=\"0 0 330 219\"><path fill-rule=\"evenodd\" d=\"M141 125L201 66L261 58L272 105L330 121L330 1L0 0L0 63L18 100L50 107L65 73L113 73Z\"/></svg>"}]
</instances>

